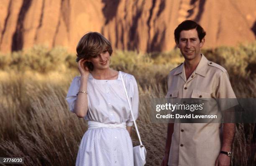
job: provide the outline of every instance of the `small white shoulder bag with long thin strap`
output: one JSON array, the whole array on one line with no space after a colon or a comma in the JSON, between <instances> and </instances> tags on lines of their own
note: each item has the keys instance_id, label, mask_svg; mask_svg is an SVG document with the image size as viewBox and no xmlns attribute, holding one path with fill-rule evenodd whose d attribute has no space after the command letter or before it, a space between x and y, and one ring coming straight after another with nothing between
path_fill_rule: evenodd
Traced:
<instances>
[{"instance_id":1,"label":"small white shoulder bag with long thin strap","mask_svg":"<svg viewBox=\"0 0 256 166\"><path fill-rule=\"evenodd\" d=\"M121 77L122 82L123 82L123 77L122 77L121 72L120 72L120 77ZM123 87L125 89L125 95L126 95L126 98L127 98L130 110L131 110L131 115L133 117L133 122L134 122L134 126L135 126L135 129L136 129L137 135L138 135L138 139L140 141L140 145L139 146L133 147L134 166L144 166L146 164L146 154L147 154L147 151L146 151L146 148L143 146L143 144L141 142L141 136L140 136L140 134L138 132L138 127L137 127L136 121L135 121L134 116L133 116L131 102L130 102L130 99L128 97L128 94L127 94L124 82L123 82Z\"/></svg>"}]
</instances>

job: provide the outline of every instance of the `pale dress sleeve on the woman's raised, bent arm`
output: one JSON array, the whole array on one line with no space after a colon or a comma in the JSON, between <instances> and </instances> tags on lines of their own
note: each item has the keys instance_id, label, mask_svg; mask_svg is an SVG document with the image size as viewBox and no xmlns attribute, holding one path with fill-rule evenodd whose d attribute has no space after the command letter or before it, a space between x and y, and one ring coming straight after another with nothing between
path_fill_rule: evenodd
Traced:
<instances>
[{"instance_id":1,"label":"pale dress sleeve on the woman's raised, bent arm","mask_svg":"<svg viewBox=\"0 0 256 166\"><path fill-rule=\"evenodd\" d=\"M80 87L80 78L74 77L66 97L67 103L69 105L69 110L72 112L74 112L74 104L77 99L77 92L79 91L79 87Z\"/></svg>"}]
</instances>

